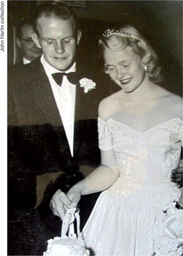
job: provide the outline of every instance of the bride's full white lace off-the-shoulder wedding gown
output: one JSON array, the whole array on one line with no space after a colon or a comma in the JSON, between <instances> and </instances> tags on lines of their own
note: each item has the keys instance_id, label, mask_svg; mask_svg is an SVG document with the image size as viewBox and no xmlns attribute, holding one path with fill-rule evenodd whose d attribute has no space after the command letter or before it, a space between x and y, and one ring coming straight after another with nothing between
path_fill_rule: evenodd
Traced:
<instances>
[{"instance_id":1,"label":"bride's full white lace off-the-shoulder wedding gown","mask_svg":"<svg viewBox=\"0 0 183 256\"><path fill-rule=\"evenodd\" d=\"M141 117L117 113L107 122L99 118L100 149L114 149L120 177L101 193L83 229L86 245L95 255L181 254L181 246L177 246L182 236L182 210L173 203L181 189L170 181L181 152L177 100L180 98L170 93ZM114 119L119 116L127 125ZM130 118L137 122L154 118L155 123L163 118L164 122L141 133L129 126Z\"/></svg>"}]
</instances>

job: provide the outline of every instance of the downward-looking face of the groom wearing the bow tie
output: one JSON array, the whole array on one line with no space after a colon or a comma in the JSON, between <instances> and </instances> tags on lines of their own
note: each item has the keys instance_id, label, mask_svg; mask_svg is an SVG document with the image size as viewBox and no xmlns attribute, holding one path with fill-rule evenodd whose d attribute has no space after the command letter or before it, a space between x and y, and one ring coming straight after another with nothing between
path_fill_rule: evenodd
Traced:
<instances>
[{"instance_id":1,"label":"downward-looking face of the groom wearing the bow tie","mask_svg":"<svg viewBox=\"0 0 183 256\"><path fill-rule=\"evenodd\" d=\"M42 16L37 20L38 39L44 59L52 67L65 71L75 61L80 34L74 33L73 19L61 20Z\"/></svg>"}]
</instances>

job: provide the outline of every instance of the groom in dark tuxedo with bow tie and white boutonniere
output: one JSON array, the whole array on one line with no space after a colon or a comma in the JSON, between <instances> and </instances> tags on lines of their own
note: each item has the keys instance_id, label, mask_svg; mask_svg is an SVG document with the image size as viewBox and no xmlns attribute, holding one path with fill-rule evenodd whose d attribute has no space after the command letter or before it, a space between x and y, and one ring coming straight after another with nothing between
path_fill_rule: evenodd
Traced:
<instances>
[{"instance_id":1,"label":"groom in dark tuxedo with bow tie and white boutonniere","mask_svg":"<svg viewBox=\"0 0 183 256\"><path fill-rule=\"evenodd\" d=\"M54 1L38 6L34 30L43 55L8 71L8 255L42 254L44 242L59 236L61 221L49 216L49 202L58 189L67 192L83 179L83 166L100 164L97 108L117 90L109 82L103 89L79 65L81 32L69 7ZM44 184L39 205L36 192ZM91 198L80 204L82 226Z\"/></svg>"}]
</instances>

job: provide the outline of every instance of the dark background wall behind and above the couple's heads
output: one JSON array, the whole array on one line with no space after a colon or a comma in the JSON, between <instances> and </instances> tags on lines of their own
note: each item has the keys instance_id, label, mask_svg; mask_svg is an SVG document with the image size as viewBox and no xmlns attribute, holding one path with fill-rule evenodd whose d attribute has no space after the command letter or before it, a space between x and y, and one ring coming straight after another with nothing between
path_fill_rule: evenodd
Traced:
<instances>
[{"instance_id":1,"label":"dark background wall behind and above the couple's heads","mask_svg":"<svg viewBox=\"0 0 183 256\"><path fill-rule=\"evenodd\" d=\"M20 20L31 18L39 2L43 1L7 1L8 67L18 60L14 54L14 27ZM160 85L182 96L182 1L86 1L85 7L73 10L82 30L80 59L86 67L98 72L96 48L107 28L131 24L159 55L164 74Z\"/></svg>"}]
</instances>

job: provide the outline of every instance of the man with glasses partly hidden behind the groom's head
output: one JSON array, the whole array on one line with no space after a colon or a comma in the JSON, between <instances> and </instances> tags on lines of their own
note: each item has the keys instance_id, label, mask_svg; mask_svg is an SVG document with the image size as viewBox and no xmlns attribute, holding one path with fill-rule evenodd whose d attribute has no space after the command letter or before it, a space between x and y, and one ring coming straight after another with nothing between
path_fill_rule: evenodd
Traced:
<instances>
[{"instance_id":1,"label":"man with glasses partly hidden behind the groom's head","mask_svg":"<svg viewBox=\"0 0 183 256\"><path fill-rule=\"evenodd\" d=\"M36 47L32 39L33 28L28 22L20 23L16 27L16 46L22 50L21 64L28 64L41 56L41 49Z\"/></svg>"}]
</instances>

